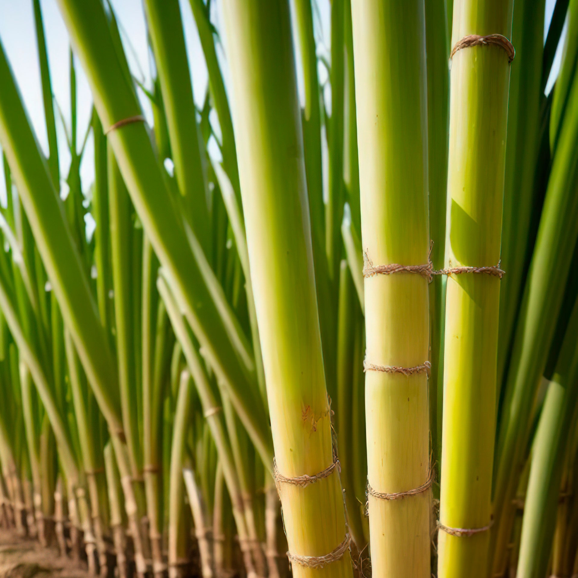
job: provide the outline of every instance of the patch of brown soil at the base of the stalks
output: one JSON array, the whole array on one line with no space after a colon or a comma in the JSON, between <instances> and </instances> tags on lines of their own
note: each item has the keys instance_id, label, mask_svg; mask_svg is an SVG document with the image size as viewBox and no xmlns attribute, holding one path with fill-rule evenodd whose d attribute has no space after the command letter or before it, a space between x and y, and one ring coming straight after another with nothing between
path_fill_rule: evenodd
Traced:
<instances>
[{"instance_id":1,"label":"patch of brown soil at the base of the stalks","mask_svg":"<svg viewBox=\"0 0 578 578\"><path fill-rule=\"evenodd\" d=\"M0 528L0 578L88 578L82 564Z\"/></svg>"}]
</instances>

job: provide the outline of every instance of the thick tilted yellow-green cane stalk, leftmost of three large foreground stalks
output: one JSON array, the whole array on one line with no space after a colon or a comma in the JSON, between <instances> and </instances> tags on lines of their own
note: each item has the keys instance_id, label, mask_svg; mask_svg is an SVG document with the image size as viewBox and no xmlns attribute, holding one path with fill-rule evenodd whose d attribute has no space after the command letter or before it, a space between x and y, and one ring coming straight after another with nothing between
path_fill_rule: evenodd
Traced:
<instances>
[{"instance_id":1,"label":"thick tilted yellow-green cane stalk, leftmost of three large foreground stalks","mask_svg":"<svg viewBox=\"0 0 578 578\"><path fill-rule=\"evenodd\" d=\"M227 2L224 11L234 98L247 248L276 464L281 475L331 466L331 416L314 279L301 116L286 0ZM331 554L346 539L339 473L303 488L280 483L289 551ZM349 553L294 576L350 576Z\"/></svg>"}]
</instances>

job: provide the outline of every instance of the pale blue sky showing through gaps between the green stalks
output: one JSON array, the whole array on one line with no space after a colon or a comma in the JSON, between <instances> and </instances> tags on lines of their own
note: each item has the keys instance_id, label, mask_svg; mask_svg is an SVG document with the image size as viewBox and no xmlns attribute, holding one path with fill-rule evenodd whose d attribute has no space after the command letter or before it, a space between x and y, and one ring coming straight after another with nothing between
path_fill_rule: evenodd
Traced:
<instances>
[{"instance_id":1,"label":"pale blue sky showing through gaps between the green stalks","mask_svg":"<svg viewBox=\"0 0 578 578\"><path fill-rule=\"evenodd\" d=\"M140 77L141 80L144 80L146 86L150 86L149 54L147 50L142 0L110 0L110 2L120 23L125 51L127 52L132 72ZM187 39L188 57L192 70L192 86L195 102L197 102L198 106L201 106L207 86L206 66L188 0L180 0L180 3ZM220 2L216 3L218 5ZM54 97L62 109L65 122L68 124L70 118L68 34L58 12L56 0L41 0L40 4L44 17ZM321 16L323 38L328 44L329 0L317 0L317 5ZM554 0L546 0L545 31L549 25L553 9ZM214 18L216 18L218 28L218 10L216 10ZM36 131L36 136L46 153L47 138L42 105L42 90L40 87L38 54L36 52L32 0L0 0L0 38L8 54L25 106ZM326 46L324 50L328 50L328 47ZM553 69L557 70L559 61L560 54L557 54ZM80 65L77 65L76 72L79 117L78 139L79 142L81 142L84 131L86 131L88 122L90 121L92 103L90 89L88 88L86 77L84 77ZM320 72L324 73L324 70L320 69ZM149 103L145 97L141 99L141 102L145 114L149 116L149 120L151 121ZM62 175L65 176L68 172L70 157L66 150L66 140L60 121L57 121L57 127L59 133L61 172ZM83 186L86 188L90 186L94 176L94 169L92 167L92 138L88 140L84 158L85 160L81 166L81 177L83 179ZM0 164L0 177L2 177L1 172L2 165ZM0 178L0 199L4 198L4 180L2 177Z\"/></svg>"}]
</instances>

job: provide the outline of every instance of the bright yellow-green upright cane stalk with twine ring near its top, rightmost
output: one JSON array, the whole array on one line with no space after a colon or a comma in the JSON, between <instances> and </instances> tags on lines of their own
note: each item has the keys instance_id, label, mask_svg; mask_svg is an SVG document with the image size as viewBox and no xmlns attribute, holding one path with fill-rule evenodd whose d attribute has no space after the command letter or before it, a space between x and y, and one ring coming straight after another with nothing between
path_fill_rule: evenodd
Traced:
<instances>
[{"instance_id":1,"label":"bright yellow-green upright cane stalk with twine ring near its top, rightmost","mask_svg":"<svg viewBox=\"0 0 578 578\"><path fill-rule=\"evenodd\" d=\"M510 37L513 2L454 2L452 46L464 36ZM446 266L495 266L500 258L509 54L470 46L454 54L450 80ZM490 525L500 281L447 279L440 525ZM438 576L487 576L488 529L438 533Z\"/></svg>"}]
</instances>

